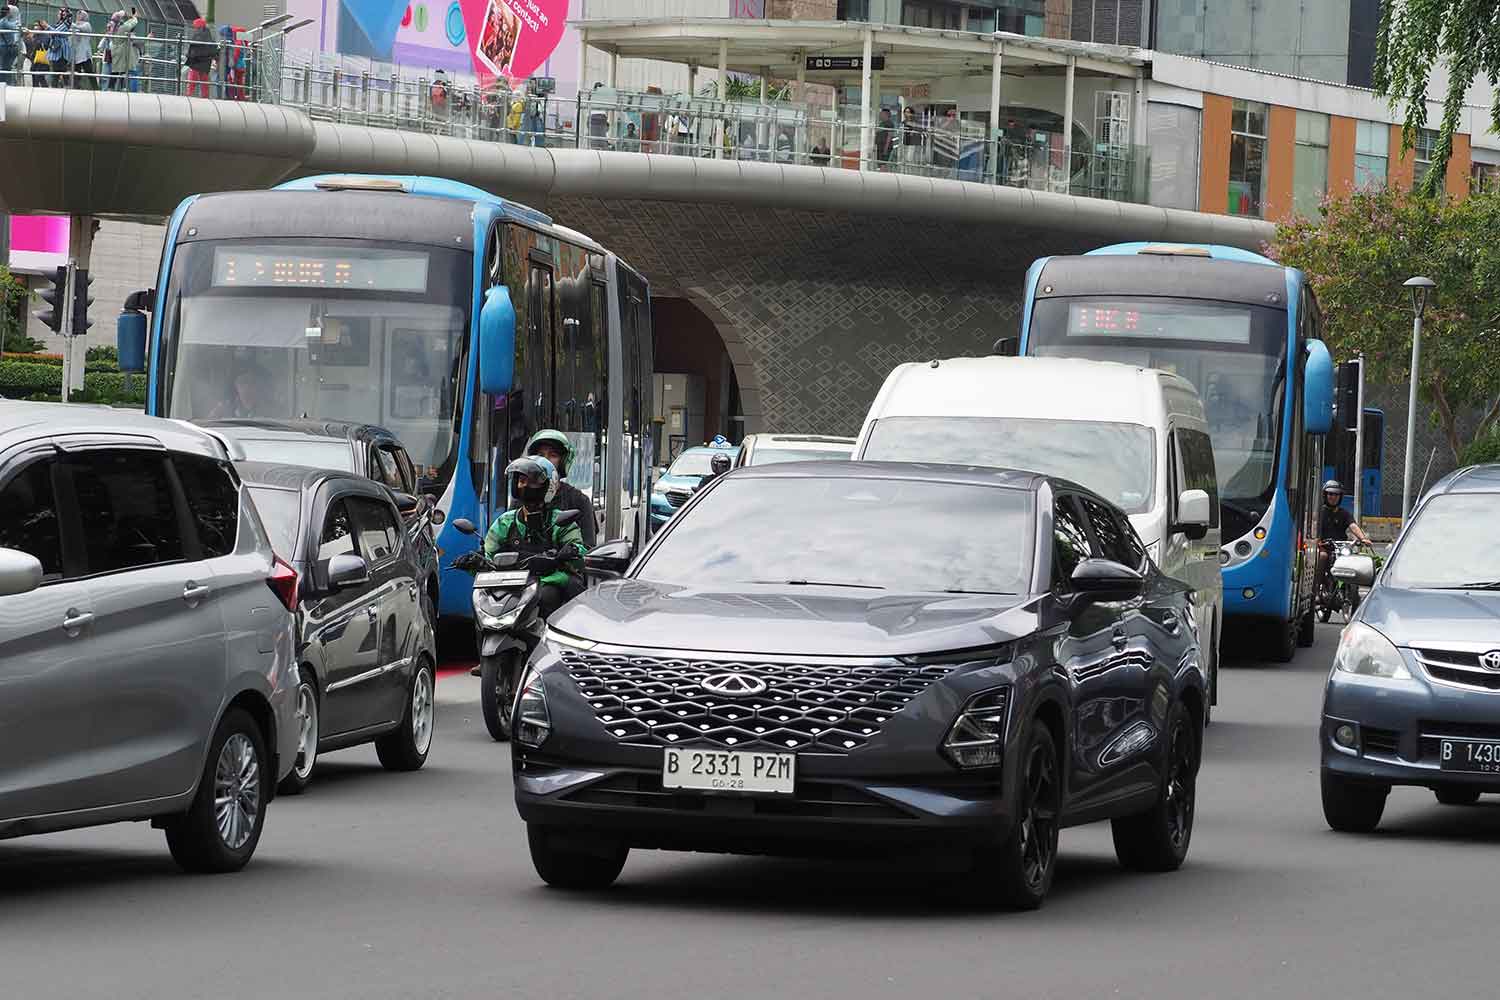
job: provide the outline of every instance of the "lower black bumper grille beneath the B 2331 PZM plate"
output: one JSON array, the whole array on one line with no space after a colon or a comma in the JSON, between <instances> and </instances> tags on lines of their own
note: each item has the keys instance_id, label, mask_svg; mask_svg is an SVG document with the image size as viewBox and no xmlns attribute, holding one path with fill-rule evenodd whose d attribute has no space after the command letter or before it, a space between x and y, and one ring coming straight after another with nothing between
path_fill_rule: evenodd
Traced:
<instances>
[{"instance_id":1,"label":"lower black bumper grille beneath the B 2331 PZM plate","mask_svg":"<svg viewBox=\"0 0 1500 1000\"><path fill-rule=\"evenodd\" d=\"M620 805L670 813L736 813L840 820L909 820L910 813L843 784L798 781L790 796L711 796L662 787L662 775L621 772L562 796L585 805Z\"/></svg>"}]
</instances>

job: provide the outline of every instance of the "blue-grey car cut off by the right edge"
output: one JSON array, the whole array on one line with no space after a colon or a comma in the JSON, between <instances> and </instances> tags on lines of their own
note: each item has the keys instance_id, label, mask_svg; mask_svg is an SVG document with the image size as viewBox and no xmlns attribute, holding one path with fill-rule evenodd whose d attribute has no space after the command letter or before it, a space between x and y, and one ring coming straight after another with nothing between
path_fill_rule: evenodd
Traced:
<instances>
[{"instance_id":1,"label":"blue-grey car cut off by the right edge","mask_svg":"<svg viewBox=\"0 0 1500 1000\"><path fill-rule=\"evenodd\" d=\"M1500 465L1428 492L1374 577L1370 556L1334 576L1374 583L1344 630L1323 694L1323 814L1380 823L1392 786L1444 805L1500 793Z\"/></svg>"}]
</instances>

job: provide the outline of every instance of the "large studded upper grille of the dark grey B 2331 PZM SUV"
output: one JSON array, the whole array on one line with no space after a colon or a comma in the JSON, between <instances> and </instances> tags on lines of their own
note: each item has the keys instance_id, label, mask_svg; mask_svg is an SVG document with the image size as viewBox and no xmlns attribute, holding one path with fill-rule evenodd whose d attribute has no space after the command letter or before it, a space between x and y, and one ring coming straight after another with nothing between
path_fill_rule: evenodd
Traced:
<instances>
[{"instance_id":1,"label":"large studded upper grille of the dark grey B 2331 PZM SUV","mask_svg":"<svg viewBox=\"0 0 1500 1000\"><path fill-rule=\"evenodd\" d=\"M686 660L567 649L562 663L598 721L624 744L846 754L860 750L951 664L844 666ZM704 681L765 684L724 697Z\"/></svg>"}]
</instances>

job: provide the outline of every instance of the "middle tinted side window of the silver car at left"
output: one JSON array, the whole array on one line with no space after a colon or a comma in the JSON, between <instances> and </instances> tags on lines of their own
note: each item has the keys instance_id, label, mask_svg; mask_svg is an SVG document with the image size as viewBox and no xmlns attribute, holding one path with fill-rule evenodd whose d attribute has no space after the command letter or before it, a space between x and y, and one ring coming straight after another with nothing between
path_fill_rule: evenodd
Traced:
<instances>
[{"instance_id":1,"label":"middle tinted side window of the silver car at left","mask_svg":"<svg viewBox=\"0 0 1500 1000\"><path fill-rule=\"evenodd\" d=\"M62 466L74 480L90 574L183 558L165 454L111 448L69 456Z\"/></svg>"}]
</instances>

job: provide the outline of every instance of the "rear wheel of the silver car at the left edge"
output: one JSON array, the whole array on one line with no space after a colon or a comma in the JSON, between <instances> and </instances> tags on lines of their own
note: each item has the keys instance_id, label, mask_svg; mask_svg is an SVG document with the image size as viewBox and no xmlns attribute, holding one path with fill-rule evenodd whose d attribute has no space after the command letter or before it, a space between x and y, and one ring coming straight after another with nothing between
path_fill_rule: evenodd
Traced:
<instances>
[{"instance_id":1,"label":"rear wheel of the silver car at the left edge","mask_svg":"<svg viewBox=\"0 0 1500 1000\"><path fill-rule=\"evenodd\" d=\"M184 871L238 871L250 861L274 781L268 763L266 738L249 712L238 708L225 712L208 741L208 759L192 805L164 825L166 847ZM220 816L214 802L222 796L231 802Z\"/></svg>"}]
</instances>

